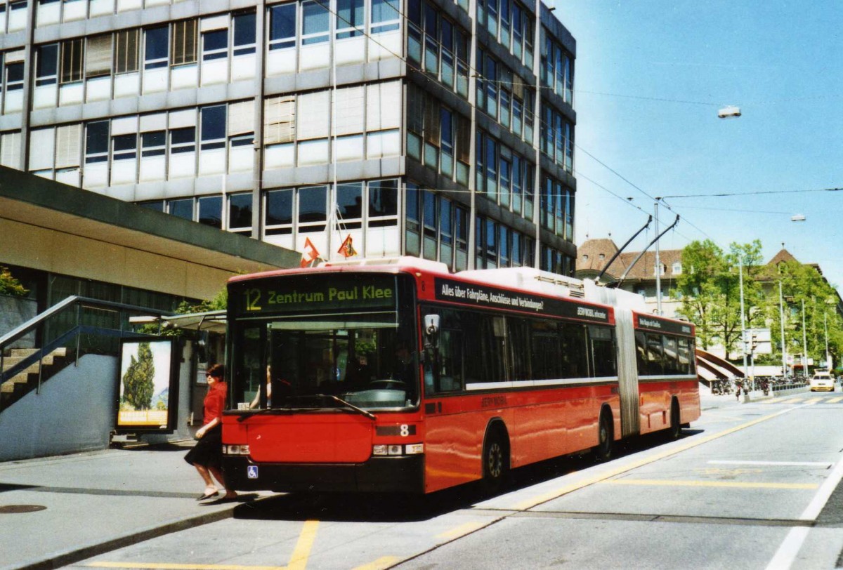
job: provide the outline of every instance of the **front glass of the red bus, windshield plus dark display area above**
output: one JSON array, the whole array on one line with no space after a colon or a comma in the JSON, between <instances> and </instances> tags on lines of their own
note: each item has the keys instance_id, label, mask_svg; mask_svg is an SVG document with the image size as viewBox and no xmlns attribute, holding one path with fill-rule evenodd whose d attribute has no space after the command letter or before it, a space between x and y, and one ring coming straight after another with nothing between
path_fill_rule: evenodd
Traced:
<instances>
[{"instance_id":1,"label":"front glass of the red bus, windshield plus dark display area above","mask_svg":"<svg viewBox=\"0 0 843 570\"><path fill-rule=\"evenodd\" d=\"M281 291L296 285L297 277L266 278L275 280L273 289L261 283L248 291L252 299L256 291L265 301L277 299ZM373 276L388 277L379 286L395 295L369 306L354 298L354 291L362 294L359 288L367 285L344 283L348 302L337 301L336 286L350 278L315 277L325 278L324 284L323 279L311 279L306 285L311 293L324 285L324 302L311 296L307 306L293 302L270 311L260 305L260 311L252 312L274 314L234 314L233 319L229 315L231 408L271 412L349 408L349 404L364 410L418 405L416 321L399 311L395 276Z\"/></svg>"}]
</instances>

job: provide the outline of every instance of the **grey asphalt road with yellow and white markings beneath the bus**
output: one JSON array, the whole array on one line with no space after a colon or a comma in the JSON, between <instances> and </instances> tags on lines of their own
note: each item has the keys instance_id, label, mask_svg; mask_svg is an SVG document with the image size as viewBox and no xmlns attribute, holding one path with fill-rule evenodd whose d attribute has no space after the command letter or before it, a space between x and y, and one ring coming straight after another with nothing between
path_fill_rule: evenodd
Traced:
<instances>
[{"instance_id":1,"label":"grey asphalt road with yellow and white markings beneath the bus","mask_svg":"<svg viewBox=\"0 0 843 570\"><path fill-rule=\"evenodd\" d=\"M75 567L834 568L843 396L707 398L676 441L515 472L495 497L277 495Z\"/></svg>"}]
</instances>

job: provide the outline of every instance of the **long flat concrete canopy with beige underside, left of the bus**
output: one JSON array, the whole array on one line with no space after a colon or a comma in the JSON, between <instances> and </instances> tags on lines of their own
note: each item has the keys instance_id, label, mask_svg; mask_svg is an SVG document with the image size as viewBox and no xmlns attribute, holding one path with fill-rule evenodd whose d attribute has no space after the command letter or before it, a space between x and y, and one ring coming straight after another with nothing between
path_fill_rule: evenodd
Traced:
<instances>
[{"instance_id":1,"label":"long flat concrete canopy with beige underside, left of the bus","mask_svg":"<svg viewBox=\"0 0 843 570\"><path fill-rule=\"evenodd\" d=\"M300 253L0 167L0 264L210 299Z\"/></svg>"}]
</instances>

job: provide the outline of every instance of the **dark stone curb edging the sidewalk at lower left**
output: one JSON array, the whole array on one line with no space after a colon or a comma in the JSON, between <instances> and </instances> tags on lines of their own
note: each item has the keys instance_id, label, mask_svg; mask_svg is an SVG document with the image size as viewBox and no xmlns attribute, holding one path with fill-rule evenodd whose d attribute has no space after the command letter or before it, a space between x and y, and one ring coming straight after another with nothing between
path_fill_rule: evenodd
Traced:
<instances>
[{"instance_id":1,"label":"dark stone curb edging the sidewalk at lower left","mask_svg":"<svg viewBox=\"0 0 843 570\"><path fill-rule=\"evenodd\" d=\"M80 560L85 560L86 558L99 556L100 554L115 551L119 548L132 546L138 542L158 538L158 536L169 535L170 533L178 532L179 530L191 529L195 526L208 525L219 520L231 519L234 517L234 509L237 506L239 505L232 505L228 509L220 509L214 511L213 513L200 514L189 519L179 519L169 523L164 523L163 525L151 526L146 529L137 530L137 532L132 532L131 534L125 536L101 542L99 544L82 546L80 548L74 548L63 552L56 552L51 555L51 557L44 560L24 562L21 566L11 568L13 568L13 570L52 570L52 568L67 566L68 564L79 562Z\"/></svg>"}]
</instances>

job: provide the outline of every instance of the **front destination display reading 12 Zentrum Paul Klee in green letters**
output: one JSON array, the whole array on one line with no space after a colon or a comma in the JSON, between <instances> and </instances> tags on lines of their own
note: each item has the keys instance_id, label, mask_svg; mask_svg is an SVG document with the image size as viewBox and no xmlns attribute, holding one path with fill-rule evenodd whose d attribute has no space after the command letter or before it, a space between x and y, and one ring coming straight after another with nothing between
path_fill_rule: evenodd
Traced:
<instances>
[{"instance_id":1,"label":"front destination display reading 12 Zentrum Paul Klee in green letters","mask_svg":"<svg viewBox=\"0 0 843 570\"><path fill-rule=\"evenodd\" d=\"M231 285L239 313L395 311L395 277L379 274L287 275Z\"/></svg>"}]
</instances>

